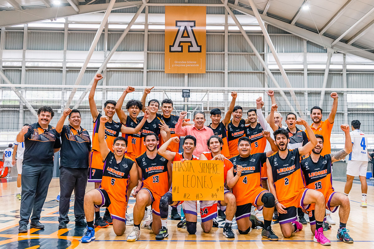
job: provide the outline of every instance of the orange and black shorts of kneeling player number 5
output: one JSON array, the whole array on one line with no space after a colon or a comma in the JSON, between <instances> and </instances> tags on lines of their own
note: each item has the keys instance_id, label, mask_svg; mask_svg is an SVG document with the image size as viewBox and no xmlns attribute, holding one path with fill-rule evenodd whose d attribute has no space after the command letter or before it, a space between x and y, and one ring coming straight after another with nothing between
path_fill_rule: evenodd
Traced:
<instances>
[{"instance_id":1,"label":"orange and black shorts of kneeling player number 5","mask_svg":"<svg viewBox=\"0 0 374 249\"><path fill-rule=\"evenodd\" d=\"M108 208L112 219L126 222L127 202L117 200L110 193L108 193L105 189L97 189L97 190L99 190L101 193L102 202L101 202L101 205L95 205L95 207L101 208L102 206L105 206Z\"/></svg>"}]
</instances>

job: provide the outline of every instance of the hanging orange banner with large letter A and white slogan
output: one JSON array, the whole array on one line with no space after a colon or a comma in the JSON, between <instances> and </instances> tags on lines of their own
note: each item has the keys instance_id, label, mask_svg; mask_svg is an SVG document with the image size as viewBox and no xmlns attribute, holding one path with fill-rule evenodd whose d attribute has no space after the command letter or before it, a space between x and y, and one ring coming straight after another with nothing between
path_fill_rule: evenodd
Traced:
<instances>
[{"instance_id":1,"label":"hanging orange banner with large letter A and white slogan","mask_svg":"<svg viewBox=\"0 0 374 249\"><path fill-rule=\"evenodd\" d=\"M206 7L165 6L165 73L205 74Z\"/></svg>"}]
</instances>

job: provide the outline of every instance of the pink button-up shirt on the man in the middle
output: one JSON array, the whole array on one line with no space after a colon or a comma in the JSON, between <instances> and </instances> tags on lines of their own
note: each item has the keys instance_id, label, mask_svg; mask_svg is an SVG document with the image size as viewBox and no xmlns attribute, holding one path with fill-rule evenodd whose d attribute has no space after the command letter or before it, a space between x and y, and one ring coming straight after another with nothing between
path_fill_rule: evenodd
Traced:
<instances>
[{"instance_id":1,"label":"pink button-up shirt on the man in the middle","mask_svg":"<svg viewBox=\"0 0 374 249\"><path fill-rule=\"evenodd\" d=\"M209 151L206 141L208 138L213 136L213 130L205 125L203 128L198 130L195 125L186 125L182 127L183 119L178 119L177 124L175 124L175 134L178 136L191 135L196 137L196 149L193 151L193 155L199 157L202 152Z\"/></svg>"}]
</instances>

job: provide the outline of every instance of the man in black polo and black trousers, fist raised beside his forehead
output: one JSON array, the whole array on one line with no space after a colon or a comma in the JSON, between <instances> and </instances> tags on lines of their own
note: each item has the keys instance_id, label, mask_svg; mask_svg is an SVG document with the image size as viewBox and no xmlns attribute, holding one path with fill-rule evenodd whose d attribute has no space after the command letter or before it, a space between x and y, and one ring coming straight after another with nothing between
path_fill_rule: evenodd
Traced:
<instances>
[{"instance_id":1,"label":"man in black polo and black trousers, fist raised beside his forehead","mask_svg":"<svg viewBox=\"0 0 374 249\"><path fill-rule=\"evenodd\" d=\"M69 115L69 125L64 125ZM85 227L83 202L88 178L88 156L91 139L88 131L80 127L80 112L67 108L57 122L56 131L61 134L60 152L60 203L58 228L66 228L71 193L74 190L75 225Z\"/></svg>"}]
</instances>

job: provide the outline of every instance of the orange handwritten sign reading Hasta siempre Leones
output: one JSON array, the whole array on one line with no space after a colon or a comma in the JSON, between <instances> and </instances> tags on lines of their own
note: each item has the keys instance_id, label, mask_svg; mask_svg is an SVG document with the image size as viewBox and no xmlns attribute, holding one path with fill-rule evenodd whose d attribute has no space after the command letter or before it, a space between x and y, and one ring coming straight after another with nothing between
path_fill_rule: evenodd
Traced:
<instances>
[{"instance_id":1,"label":"orange handwritten sign reading Hasta siempre Leones","mask_svg":"<svg viewBox=\"0 0 374 249\"><path fill-rule=\"evenodd\" d=\"M172 195L178 200L223 200L222 161L174 161Z\"/></svg>"}]
</instances>

